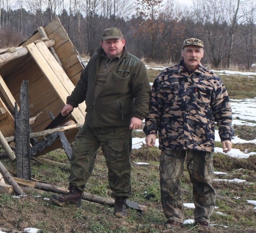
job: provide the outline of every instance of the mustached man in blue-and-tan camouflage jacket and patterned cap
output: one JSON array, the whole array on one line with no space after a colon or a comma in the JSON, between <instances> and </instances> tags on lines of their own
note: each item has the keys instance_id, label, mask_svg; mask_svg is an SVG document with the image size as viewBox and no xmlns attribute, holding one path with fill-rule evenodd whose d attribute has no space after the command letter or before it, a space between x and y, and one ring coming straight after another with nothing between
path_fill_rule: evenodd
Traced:
<instances>
[{"instance_id":1,"label":"mustached man in blue-and-tan camouflage jacket and patterned cap","mask_svg":"<svg viewBox=\"0 0 256 233\"><path fill-rule=\"evenodd\" d=\"M166 227L181 227L183 203L180 179L186 163L193 184L195 224L210 232L216 194L212 187L214 122L224 152L232 147L231 105L221 79L200 63L203 42L186 39L179 64L156 77L144 132L146 145L159 136L160 187Z\"/></svg>"}]
</instances>

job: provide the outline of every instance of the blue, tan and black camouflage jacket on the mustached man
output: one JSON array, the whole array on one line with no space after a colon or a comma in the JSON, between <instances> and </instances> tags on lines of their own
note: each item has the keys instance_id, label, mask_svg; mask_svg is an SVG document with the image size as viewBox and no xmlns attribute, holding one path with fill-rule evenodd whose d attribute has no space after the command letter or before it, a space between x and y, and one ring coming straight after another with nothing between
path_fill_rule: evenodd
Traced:
<instances>
[{"instance_id":1,"label":"blue, tan and black camouflage jacket on the mustached man","mask_svg":"<svg viewBox=\"0 0 256 233\"><path fill-rule=\"evenodd\" d=\"M179 64L156 77L144 132L159 135L160 150L214 151L214 122L221 140L231 140L232 113L221 79L199 65L188 74Z\"/></svg>"}]
</instances>

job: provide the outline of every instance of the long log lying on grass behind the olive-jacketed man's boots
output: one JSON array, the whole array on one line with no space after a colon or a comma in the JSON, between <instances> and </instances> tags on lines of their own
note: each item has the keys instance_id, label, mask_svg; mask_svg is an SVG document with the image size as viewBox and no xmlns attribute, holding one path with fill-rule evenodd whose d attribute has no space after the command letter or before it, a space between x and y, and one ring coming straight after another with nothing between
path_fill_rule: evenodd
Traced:
<instances>
[{"instance_id":1,"label":"long log lying on grass behind the olive-jacketed man's boots","mask_svg":"<svg viewBox=\"0 0 256 233\"><path fill-rule=\"evenodd\" d=\"M20 179L20 178L16 178L16 177L14 177L14 179L16 180L16 182L18 184L21 184L23 186L29 186L31 188L35 188L35 189L39 189L39 190L55 192L58 194L64 194L64 193L69 192L69 190L67 190L67 188L62 188L62 187L55 186L55 185L45 184L45 183L38 182L38 181L24 180L24 179ZM115 202L114 199L112 199L112 198L101 197L98 195L89 194L89 193L85 193L85 192L83 192L82 199L84 199L86 201L96 202L96 203L99 203L102 205L108 205L111 207L114 206L114 202ZM136 209L138 212L146 211L148 209L148 207L146 205L140 205L139 203L137 203L135 201L130 201L130 200L126 200L126 205L129 208Z\"/></svg>"}]
</instances>

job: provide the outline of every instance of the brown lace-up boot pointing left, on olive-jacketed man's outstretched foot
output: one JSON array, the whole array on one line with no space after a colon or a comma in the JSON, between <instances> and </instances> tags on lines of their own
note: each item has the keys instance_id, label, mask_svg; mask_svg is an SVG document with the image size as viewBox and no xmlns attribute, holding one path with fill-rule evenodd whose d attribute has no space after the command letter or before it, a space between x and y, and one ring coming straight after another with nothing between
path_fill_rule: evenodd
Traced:
<instances>
[{"instance_id":1,"label":"brown lace-up boot pointing left, on olive-jacketed man's outstretched foot","mask_svg":"<svg viewBox=\"0 0 256 233\"><path fill-rule=\"evenodd\" d=\"M69 185L68 187L69 193L63 194L63 195L52 195L51 200L58 204L58 205L66 205L66 204L71 204L71 205L76 205L77 207L81 206L82 203L82 193L83 191L78 190L75 186L72 184Z\"/></svg>"}]
</instances>

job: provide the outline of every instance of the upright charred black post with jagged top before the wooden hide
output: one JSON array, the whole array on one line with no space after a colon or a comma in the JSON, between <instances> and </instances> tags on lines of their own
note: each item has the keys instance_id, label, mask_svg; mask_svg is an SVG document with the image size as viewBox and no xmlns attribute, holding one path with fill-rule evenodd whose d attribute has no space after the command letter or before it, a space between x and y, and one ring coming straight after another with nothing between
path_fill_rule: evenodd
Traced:
<instances>
[{"instance_id":1,"label":"upright charred black post with jagged top before the wooden hide","mask_svg":"<svg viewBox=\"0 0 256 233\"><path fill-rule=\"evenodd\" d=\"M22 81L20 112L15 103L15 146L17 177L31 180L28 81Z\"/></svg>"}]
</instances>

